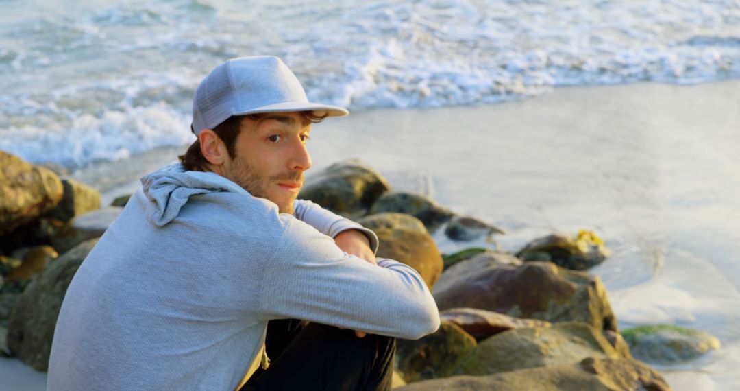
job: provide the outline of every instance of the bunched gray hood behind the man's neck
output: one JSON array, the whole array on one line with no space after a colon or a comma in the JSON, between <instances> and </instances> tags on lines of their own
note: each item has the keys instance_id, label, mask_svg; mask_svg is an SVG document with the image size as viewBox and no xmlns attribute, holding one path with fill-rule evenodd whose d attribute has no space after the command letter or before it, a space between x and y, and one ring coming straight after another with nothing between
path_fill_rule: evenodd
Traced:
<instances>
[{"instance_id":1,"label":"bunched gray hood behind the man's neck","mask_svg":"<svg viewBox=\"0 0 740 391\"><path fill-rule=\"evenodd\" d=\"M186 171L174 163L141 177L144 195L149 200L145 215L150 223L163 227L180 213L192 195L230 192L249 195L242 187L216 173Z\"/></svg>"}]
</instances>

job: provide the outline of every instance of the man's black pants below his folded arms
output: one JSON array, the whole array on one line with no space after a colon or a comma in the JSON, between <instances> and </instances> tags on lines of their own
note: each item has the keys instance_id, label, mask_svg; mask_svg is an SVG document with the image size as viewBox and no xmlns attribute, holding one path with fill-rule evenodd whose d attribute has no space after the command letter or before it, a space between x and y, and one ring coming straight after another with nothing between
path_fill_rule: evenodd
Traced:
<instances>
[{"instance_id":1,"label":"man's black pants below his folded arms","mask_svg":"<svg viewBox=\"0 0 740 391\"><path fill-rule=\"evenodd\" d=\"M242 390L390 390L396 340L295 319L270 321L270 366Z\"/></svg>"}]
</instances>

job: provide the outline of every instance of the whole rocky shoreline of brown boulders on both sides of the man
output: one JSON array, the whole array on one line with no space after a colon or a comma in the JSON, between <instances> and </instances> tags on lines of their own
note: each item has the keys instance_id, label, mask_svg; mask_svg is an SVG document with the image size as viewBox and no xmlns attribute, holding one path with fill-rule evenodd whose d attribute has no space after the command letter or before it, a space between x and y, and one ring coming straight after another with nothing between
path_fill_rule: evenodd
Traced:
<instances>
[{"instance_id":1,"label":"whole rocky shoreline of brown boulders on both sides of the man","mask_svg":"<svg viewBox=\"0 0 740 391\"><path fill-rule=\"evenodd\" d=\"M67 285L128 196L102 207L92 187L3 152L0 170L0 348L44 371ZM513 254L442 254L430 233L495 244L504 230L394 193L359 161L327 167L300 198L376 231L378 255L414 267L433 290L443 325L399 341L403 390L670 390L642 361L671 364L719 349L705 332L670 325L620 333L605 287L587 271L608 262L593 232L534 238Z\"/></svg>"}]
</instances>

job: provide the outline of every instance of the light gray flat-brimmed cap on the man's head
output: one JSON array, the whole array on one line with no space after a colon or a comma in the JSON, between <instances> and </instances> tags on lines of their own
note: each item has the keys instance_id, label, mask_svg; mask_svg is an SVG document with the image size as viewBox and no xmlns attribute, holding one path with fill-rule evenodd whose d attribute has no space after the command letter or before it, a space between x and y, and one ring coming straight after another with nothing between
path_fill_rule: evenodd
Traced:
<instances>
[{"instance_id":1,"label":"light gray flat-brimmed cap on the man's head","mask_svg":"<svg viewBox=\"0 0 740 391\"><path fill-rule=\"evenodd\" d=\"M295 111L328 117L349 114L342 107L309 102L298 78L277 57L239 57L215 67L198 85L192 101L192 130L198 136L230 116Z\"/></svg>"}]
</instances>

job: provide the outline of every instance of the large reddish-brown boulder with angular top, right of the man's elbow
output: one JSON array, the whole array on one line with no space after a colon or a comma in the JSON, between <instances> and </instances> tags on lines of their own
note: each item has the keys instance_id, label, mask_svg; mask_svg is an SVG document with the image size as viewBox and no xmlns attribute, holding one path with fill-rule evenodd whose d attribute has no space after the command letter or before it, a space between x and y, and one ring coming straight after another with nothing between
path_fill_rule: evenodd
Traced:
<instances>
[{"instance_id":1,"label":"large reddish-brown boulder with angular top, right of the man's elbow","mask_svg":"<svg viewBox=\"0 0 740 391\"><path fill-rule=\"evenodd\" d=\"M583 321L616 331L604 284L585 272L550 262L499 264L481 257L445 270L434 285L440 310L469 307L542 321Z\"/></svg>"}]
</instances>

